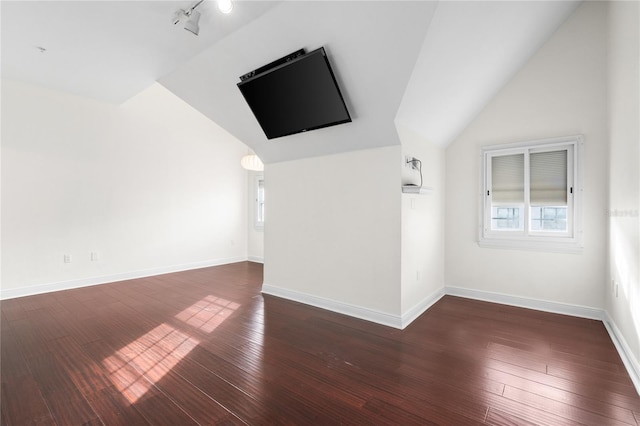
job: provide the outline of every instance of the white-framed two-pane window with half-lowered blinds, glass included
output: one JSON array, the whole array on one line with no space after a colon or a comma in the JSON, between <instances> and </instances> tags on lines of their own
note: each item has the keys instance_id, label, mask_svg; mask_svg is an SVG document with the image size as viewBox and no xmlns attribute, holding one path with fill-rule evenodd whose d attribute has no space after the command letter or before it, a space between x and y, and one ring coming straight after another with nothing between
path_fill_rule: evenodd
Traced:
<instances>
[{"instance_id":1,"label":"white-framed two-pane window with half-lowered blinds, glass included","mask_svg":"<svg viewBox=\"0 0 640 426\"><path fill-rule=\"evenodd\" d=\"M572 136L483 148L481 245L579 245L581 145Z\"/></svg>"}]
</instances>

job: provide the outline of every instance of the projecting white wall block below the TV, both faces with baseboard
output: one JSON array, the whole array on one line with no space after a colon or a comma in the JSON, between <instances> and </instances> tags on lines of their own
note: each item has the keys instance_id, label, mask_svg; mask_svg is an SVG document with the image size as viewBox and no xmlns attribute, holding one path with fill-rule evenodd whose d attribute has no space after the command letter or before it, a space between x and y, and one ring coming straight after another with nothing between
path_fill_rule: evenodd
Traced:
<instances>
[{"instance_id":1,"label":"projecting white wall block below the TV, both faces with baseboard","mask_svg":"<svg viewBox=\"0 0 640 426\"><path fill-rule=\"evenodd\" d=\"M402 148L266 166L265 293L398 328L442 295L444 149L398 135ZM404 155L433 193L402 194L419 180Z\"/></svg>"}]
</instances>

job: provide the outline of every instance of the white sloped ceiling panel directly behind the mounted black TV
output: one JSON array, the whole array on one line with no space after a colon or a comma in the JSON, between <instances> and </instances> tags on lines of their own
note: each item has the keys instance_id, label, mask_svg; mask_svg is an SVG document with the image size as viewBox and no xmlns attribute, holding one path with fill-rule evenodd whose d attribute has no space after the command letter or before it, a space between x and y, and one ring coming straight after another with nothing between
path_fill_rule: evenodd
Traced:
<instances>
[{"instance_id":1,"label":"white sloped ceiling panel directly behind the mounted black TV","mask_svg":"<svg viewBox=\"0 0 640 426\"><path fill-rule=\"evenodd\" d=\"M264 162L399 144L393 118L435 2L283 2L160 83L249 145ZM353 122L268 141L239 76L324 46Z\"/></svg>"}]
</instances>

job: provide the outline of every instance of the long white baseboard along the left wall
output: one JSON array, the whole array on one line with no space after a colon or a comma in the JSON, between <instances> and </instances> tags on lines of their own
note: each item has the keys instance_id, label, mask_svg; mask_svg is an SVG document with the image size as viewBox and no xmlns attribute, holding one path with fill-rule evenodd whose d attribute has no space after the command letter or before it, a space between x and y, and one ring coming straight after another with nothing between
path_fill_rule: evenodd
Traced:
<instances>
[{"instance_id":1,"label":"long white baseboard along the left wall","mask_svg":"<svg viewBox=\"0 0 640 426\"><path fill-rule=\"evenodd\" d=\"M74 288L88 287L99 284L107 284L116 281L132 280L136 278L152 277L155 275L169 274L172 272L188 271L191 269L207 268L210 266L226 265L246 261L246 257L227 257L211 259L202 262L186 263L182 265L162 266L159 268L143 269L139 271L123 272L119 274L87 277L77 280L60 281L54 283L39 284L29 287L0 289L0 300L14 299L16 297L33 296L36 294L50 293L52 291L71 290Z\"/></svg>"}]
</instances>

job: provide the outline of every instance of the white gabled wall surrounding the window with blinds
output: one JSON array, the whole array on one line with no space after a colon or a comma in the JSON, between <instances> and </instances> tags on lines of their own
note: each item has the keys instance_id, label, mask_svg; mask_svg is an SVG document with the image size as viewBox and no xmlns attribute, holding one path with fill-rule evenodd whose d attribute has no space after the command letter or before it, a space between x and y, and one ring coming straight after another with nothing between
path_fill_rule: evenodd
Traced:
<instances>
[{"instance_id":1,"label":"white gabled wall surrounding the window with blinds","mask_svg":"<svg viewBox=\"0 0 640 426\"><path fill-rule=\"evenodd\" d=\"M447 287L604 308L606 28L606 5L584 2L447 148ZM585 137L582 254L480 248L480 147L572 134Z\"/></svg>"}]
</instances>

